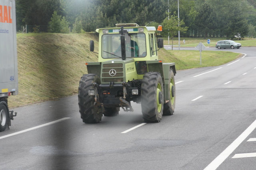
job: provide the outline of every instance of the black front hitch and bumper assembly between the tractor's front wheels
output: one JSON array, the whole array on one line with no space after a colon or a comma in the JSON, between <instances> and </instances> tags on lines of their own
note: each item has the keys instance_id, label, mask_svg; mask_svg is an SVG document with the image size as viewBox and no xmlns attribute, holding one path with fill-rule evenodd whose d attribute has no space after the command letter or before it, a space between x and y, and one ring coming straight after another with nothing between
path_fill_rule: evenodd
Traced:
<instances>
[{"instance_id":1,"label":"black front hitch and bumper assembly between the tractor's front wheels","mask_svg":"<svg viewBox=\"0 0 256 170\"><path fill-rule=\"evenodd\" d=\"M94 89L89 90L89 95L94 96L94 107L97 107L98 111L104 112L104 107L122 107L124 111L134 111L130 102L126 101L128 87L127 83L114 84L93 84ZM113 91L122 91L122 96L110 95ZM100 92L100 93L98 93ZM99 96L102 96L102 101L99 100ZM101 107L101 108L99 108ZM125 107L125 108L124 108Z\"/></svg>"}]
</instances>

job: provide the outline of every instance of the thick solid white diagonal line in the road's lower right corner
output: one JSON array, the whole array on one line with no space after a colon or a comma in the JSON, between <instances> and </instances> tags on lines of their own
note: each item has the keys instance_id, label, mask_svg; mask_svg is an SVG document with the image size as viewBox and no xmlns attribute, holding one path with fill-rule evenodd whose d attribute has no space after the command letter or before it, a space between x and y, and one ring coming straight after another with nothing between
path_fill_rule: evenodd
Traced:
<instances>
[{"instance_id":1,"label":"thick solid white diagonal line in the road's lower right corner","mask_svg":"<svg viewBox=\"0 0 256 170\"><path fill-rule=\"evenodd\" d=\"M234 140L219 156L217 156L204 170L216 170L222 162L252 133L256 128L256 120L238 137Z\"/></svg>"}]
</instances>

